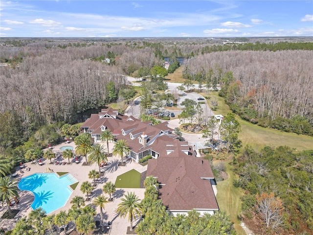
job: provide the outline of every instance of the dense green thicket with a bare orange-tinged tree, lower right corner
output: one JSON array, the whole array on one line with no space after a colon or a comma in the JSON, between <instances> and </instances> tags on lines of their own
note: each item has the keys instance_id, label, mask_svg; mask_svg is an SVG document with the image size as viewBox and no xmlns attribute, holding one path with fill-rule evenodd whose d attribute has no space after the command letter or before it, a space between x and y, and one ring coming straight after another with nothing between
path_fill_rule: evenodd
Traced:
<instances>
[{"instance_id":1,"label":"dense green thicket with a bare orange-tinged tree, lower right corner","mask_svg":"<svg viewBox=\"0 0 313 235\"><path fill-rule=\"evenodd\" d=\"M266 146L257 152L246 147L233 163L239 174L235 186L246 191L244 216L256 218L257 234L311 234L313 150L294 153L287 146Z\"/></svg>"}]
</instances>

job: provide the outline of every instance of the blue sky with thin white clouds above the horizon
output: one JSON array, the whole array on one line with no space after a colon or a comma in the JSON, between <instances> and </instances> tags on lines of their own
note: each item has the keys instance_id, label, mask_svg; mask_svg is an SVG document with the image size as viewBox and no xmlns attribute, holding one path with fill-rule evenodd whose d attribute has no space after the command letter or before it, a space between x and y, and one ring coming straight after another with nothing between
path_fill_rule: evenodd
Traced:
<instances>
[{"instance_id":1,"label":"blue sky with thin white clouds above the horizon","mask_svg":"<svg viewBox=\"0 0 313 235\"><path fill-rule=\"evenodd\" d=\"M0 0L0 36L313 36L313 1Z\"/></svg>"}]
</instances>

